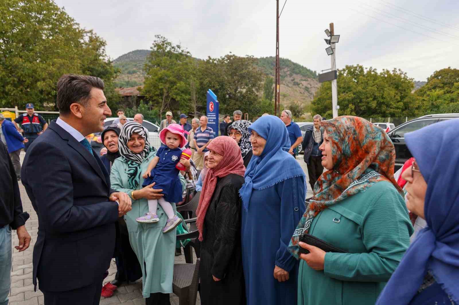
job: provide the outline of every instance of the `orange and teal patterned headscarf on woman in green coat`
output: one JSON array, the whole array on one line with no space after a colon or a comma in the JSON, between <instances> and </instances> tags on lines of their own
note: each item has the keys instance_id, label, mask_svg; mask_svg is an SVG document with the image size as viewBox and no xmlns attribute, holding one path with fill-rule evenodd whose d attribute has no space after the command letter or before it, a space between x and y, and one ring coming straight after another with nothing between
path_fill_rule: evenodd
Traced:
<instances>
[{"instance_id":1,"label":"orange and teal patterned headscarf on woman in green coat","mask_svg":"<svg viewBox=\"0 0 459 305\"><path fill-rule=\"evenodd\" d=\"M403 196L394 179L395 149L381 128L357 116L339 116L321 122L331 142L333 169L314 185L314 196L298 223L288 250L298 259L300 235L320 211L349 196L364 192L379 181L388 181Z\"/></svg>"}]
</instances>

